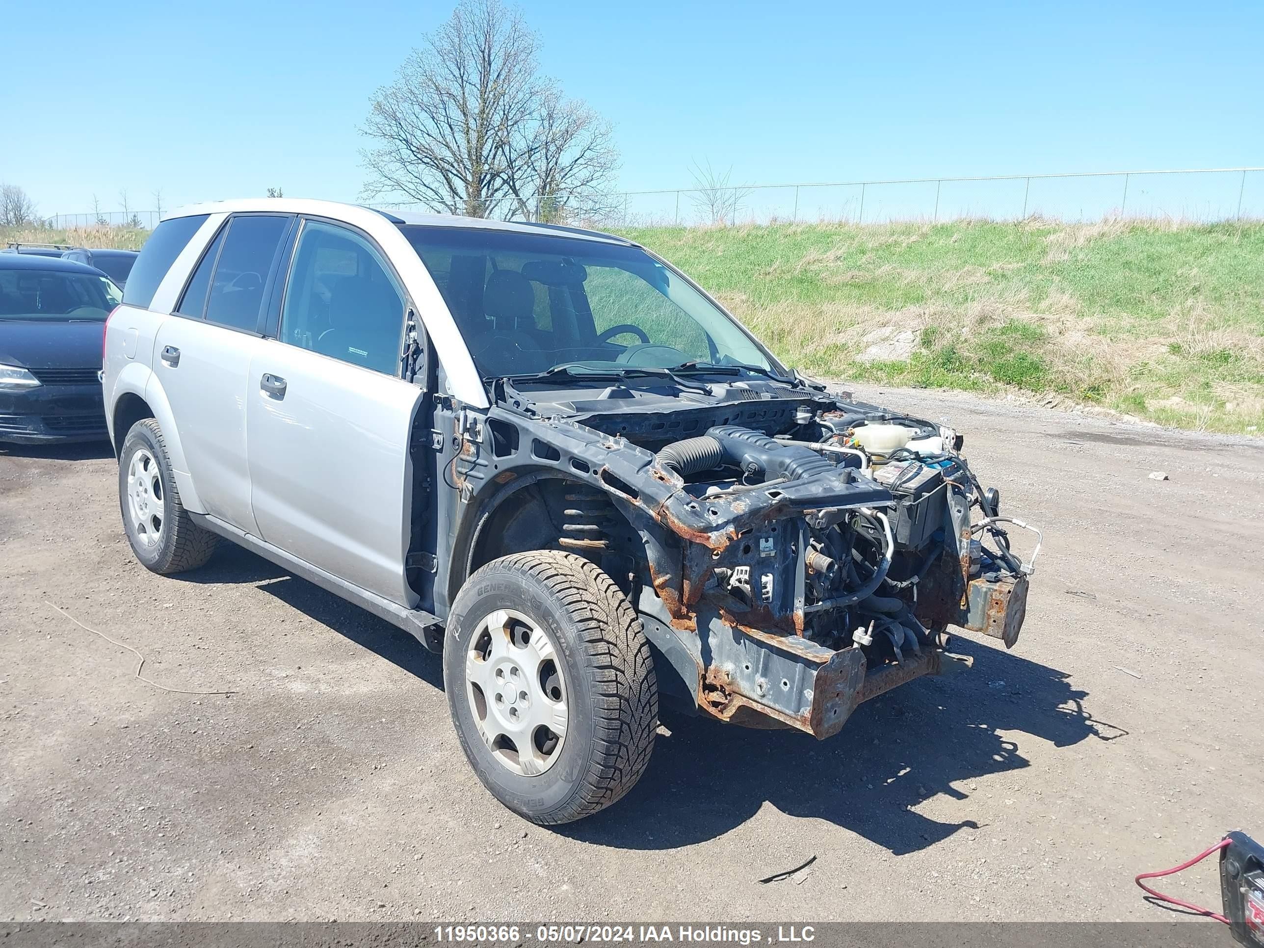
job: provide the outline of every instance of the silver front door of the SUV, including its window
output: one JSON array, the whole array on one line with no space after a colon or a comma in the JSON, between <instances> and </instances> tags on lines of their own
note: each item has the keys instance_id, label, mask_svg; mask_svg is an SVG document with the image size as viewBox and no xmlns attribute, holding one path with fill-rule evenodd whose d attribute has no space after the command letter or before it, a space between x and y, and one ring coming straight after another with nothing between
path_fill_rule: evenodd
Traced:
<instances>
[{"instance_id":1,"label":"silver front door of the SUV, including its window","mask_svg":"<svg viewBox=\"0 0 1264 948\"><path fill-rule=\"evenodd\" d=\"M260 536L402 605L422 389L399 377L402 283L364 234L302 222L276 339L250 359L246 440Z\"/></svg>"}]
</instances>

